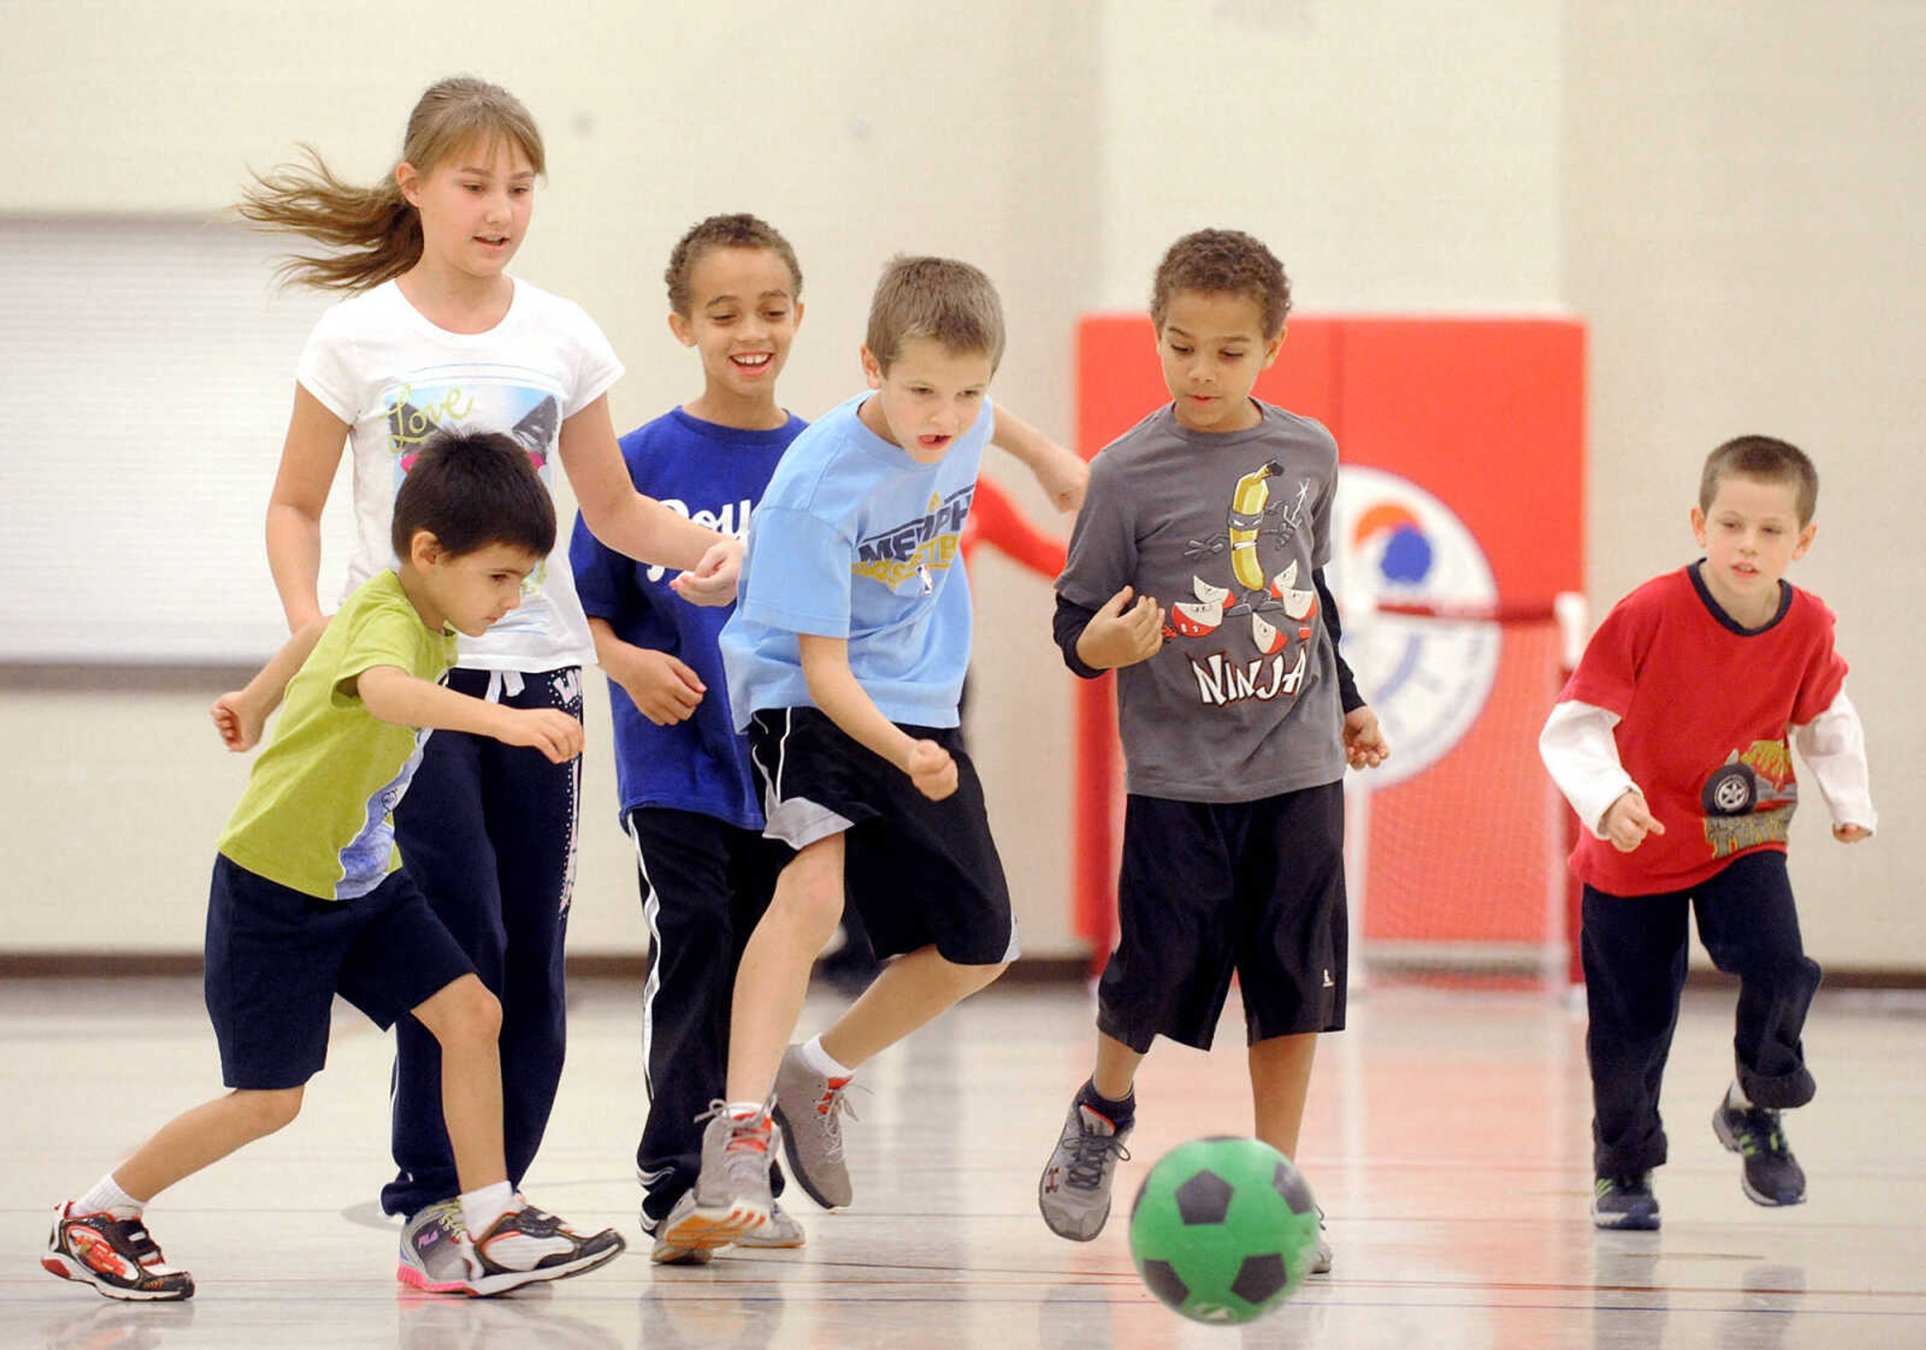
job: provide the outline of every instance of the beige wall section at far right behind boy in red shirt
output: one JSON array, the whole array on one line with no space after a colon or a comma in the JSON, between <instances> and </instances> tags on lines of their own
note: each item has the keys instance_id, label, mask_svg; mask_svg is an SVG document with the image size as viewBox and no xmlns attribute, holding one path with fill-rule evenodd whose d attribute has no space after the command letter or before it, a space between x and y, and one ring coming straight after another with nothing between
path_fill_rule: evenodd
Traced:
<instances>
[{"instance_id":1,"label":"beige wall section at far right behind boy in red shirt","mask_svg":"<svg viewBox=\"0 0 1926 1350\"><path fill-rule=\"evenodd\" d=\"M1926 6L1577 4L1568 300L1591 322L1591 595L1695 557L1699 466L1745 431L1820 470L1791 580L1839 614L1884 828L1843 847L1810 792L1791 872L1834 967L1926 967ZM1909 689L1913 693L1909 693Z\"/></svg>"}]
</instances>

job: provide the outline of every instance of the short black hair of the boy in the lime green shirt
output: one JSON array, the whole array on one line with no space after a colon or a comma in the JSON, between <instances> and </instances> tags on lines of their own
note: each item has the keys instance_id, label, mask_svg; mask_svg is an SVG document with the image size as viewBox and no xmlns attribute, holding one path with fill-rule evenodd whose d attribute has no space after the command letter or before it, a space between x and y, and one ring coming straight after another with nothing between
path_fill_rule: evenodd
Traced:
<instances>
[{"instance_id":1,"label":"short black hair of the boy in the lime green shirt","mask_svg":"<svg viewBox=\"0 0 1926 1350\"><path fill-rule=\"evenodd\" d=\"M395 493L389 541L406 558L426 530L453 555L491 543L547 557L555 549L555 501L528 451L501 431L435 431Z\"/></svg>"}]
</instances>

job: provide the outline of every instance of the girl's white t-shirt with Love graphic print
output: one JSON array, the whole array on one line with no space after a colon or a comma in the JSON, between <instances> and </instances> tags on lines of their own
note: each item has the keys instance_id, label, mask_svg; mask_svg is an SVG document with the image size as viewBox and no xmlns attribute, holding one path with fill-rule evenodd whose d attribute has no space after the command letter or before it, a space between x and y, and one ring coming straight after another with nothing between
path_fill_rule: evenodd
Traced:
<instances>
[{"instance_id":1,"label":"girl's white t-shirt with Love graphic print","mask_svg":"<svg viewBox=\"0 0 1926 1350\"><path fill-rule=\"evenodd\" d=\"M300 385L349 424L354 454L354 557L343 595L393 564L395 491L439 428L507 431L555 491L562 422L622 377L622 362L582 306L526 281L501 324L451 333L383 281L327 310L295 370ZM482 637L460 639L460 664L555 670L595 661L568 574L568 532L522 589L522 605Z\"/></svg>"}]
</instances>

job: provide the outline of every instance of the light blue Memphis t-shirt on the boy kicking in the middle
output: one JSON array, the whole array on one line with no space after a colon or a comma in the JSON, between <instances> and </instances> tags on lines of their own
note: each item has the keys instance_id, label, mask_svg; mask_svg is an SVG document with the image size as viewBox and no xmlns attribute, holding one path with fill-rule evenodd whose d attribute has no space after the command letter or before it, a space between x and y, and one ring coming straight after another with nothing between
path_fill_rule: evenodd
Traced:
<instances>
[{"instance_id":1,"label":"light blue Memphis t-shirt on the boy kicking in the middle","mask_svg":"<svg viewBox=\"0 0 1926 1350\"><path fill-rule=\"evenodd\" d=\"M815 707L797 634L846 637L849 668L892 722L955 726L969 668L961 535L996 414L936 464L863 426L865 391L790 445L749 526L722 664L736 726L757 709Z\"/></svg>"}]
</instances>

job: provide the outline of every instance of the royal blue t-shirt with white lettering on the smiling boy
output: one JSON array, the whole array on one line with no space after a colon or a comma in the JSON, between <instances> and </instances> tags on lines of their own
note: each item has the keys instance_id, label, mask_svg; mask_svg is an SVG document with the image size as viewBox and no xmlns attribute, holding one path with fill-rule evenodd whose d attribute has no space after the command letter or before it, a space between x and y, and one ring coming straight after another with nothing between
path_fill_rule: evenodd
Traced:
<instances>
[{"instance_id":1,"label":"royal blue t-shirt with white lettering on the smiling boy","mask_svg":"<svg viewBox=\"0 0 1926 1350\"><path fill-rule=\"evenodd\" d=\"M774 431L740 431L672 408L624 435L622 458L638 491L699 526L742 539L776 460L805 426L792 416ZM668 587L672 570L636 562L603 545L582 516L576 516L568 564L584 612L607 620L626 643L676 657L709 689L686 722L657 726L622 686L609 682L622 817L636 807L672 807L761 830L763 807L749 776L749 749L730 718L728 680L716 649L730 607L690 605Z\"/></svg>"}]
</instances>

